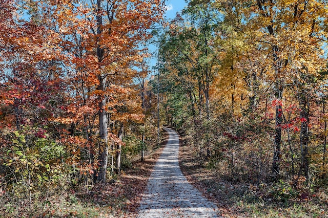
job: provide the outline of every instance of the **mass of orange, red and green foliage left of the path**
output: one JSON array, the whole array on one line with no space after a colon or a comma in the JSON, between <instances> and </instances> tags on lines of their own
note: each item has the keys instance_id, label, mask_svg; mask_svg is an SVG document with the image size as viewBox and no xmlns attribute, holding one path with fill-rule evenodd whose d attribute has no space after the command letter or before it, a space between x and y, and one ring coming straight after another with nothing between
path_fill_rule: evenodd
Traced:
<instances>
[{"instance_id":1,"label":"mass of orange, red and green foliage left of the path","mask_svg":"<svg viewBox=\"0 0 328 218\"><path fill-rule=\"evenodd\" d=\"M163 4L101 1L97 11L89 1L1 2L0 161L6 174L14 170L11 179L22 178L27 191L72 169L90 180L106 150L95 145L122 143L107 124L144 122L133 83L146 76L137 69L149 54L139 44ZM110 119L107 138L99 139L99 112Z\"/></svg>"}]
</instances>

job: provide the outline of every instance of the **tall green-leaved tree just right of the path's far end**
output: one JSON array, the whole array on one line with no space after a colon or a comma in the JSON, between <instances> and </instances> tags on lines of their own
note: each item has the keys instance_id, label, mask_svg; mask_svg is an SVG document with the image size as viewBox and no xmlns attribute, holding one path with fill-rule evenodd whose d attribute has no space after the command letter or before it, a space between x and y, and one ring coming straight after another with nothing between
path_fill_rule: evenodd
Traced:
<instances>
[{"instance_id":1,"label":"tall green-leaved tree just right of the path's far end","mask_svg":"<svg viewBox=\"0 0 328 218\"><path fill-rule=\"evenodd\" d=\"M197 102L199 116L205 108L210 119L210 85L217 74L219 57L214 50L218 14L210 1L191 1L182 16L172 21L160 46L161 62L177 72L177 79L188 89L191 101ZM174 58L171 58L174 57ZM196 100L195 92L198 99ZM203 103L203 99L205 103ZM194 106L192 106L193 108Z\"/></svg>"}]
</instances>

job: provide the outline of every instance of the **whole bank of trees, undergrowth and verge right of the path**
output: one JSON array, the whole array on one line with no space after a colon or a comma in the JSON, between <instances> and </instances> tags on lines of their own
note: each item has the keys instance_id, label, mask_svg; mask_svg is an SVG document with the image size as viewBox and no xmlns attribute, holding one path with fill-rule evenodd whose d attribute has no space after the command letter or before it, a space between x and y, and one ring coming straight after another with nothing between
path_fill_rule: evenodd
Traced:
<instances>
[{"instance_id":1,"label":"whole bank of trees, undergrowth and verge right of the path","mask_svg":"<svg viewBox=\"0 0 328 218\"><path fill-rule=\"evenodd\" d=\"M189 1L160 37L161 113L231 217L326 217L326 1Z\"/></svg>"}]
</instances>

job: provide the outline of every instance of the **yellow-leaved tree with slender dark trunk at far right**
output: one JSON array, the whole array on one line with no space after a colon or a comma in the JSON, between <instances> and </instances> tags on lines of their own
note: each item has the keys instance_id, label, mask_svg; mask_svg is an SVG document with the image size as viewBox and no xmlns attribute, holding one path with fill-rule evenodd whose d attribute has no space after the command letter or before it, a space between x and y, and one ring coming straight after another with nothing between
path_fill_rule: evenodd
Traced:
<instances>
[{"instance_id":1,"label":"yellow-leaved tree with slender dark trunk at far right","mask_svg":"<svg viewBox=\"0 0 328 218\"><path fill-rule=\"evenodd\" d=\"M248 45L261 52L261 69L270 82L275 108L275 136L272 169L280 174L281 126L283 122L283 93L291 79L298 77L298 69L316 73L323 66L320 38L325 37L323 26L325 1L216 1L216 7L240 32ZM306 50L306 52L304 52Z\"/></svg>"}]
</instances>

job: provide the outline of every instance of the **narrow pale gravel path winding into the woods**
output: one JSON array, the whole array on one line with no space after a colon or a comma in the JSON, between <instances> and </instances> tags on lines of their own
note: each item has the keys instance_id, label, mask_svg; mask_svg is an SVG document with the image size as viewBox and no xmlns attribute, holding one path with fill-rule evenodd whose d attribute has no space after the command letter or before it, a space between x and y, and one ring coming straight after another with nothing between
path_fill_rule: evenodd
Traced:
<instances>
[{"instance_id":1,"label":"narrow pale gravel path winding into the woods","mask_svg":"<svg viewBox=\"0 0 328 218\"><path fill-rule=\"evenodd\" d=\"M139 217L218 217L217 207L188 183L179 167L179 137L165 128L169 141L149 178Z\"/></svg>"}]
</instances>

